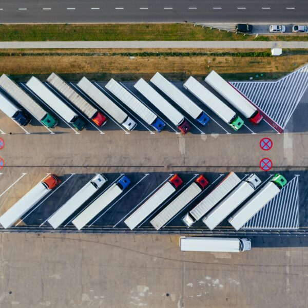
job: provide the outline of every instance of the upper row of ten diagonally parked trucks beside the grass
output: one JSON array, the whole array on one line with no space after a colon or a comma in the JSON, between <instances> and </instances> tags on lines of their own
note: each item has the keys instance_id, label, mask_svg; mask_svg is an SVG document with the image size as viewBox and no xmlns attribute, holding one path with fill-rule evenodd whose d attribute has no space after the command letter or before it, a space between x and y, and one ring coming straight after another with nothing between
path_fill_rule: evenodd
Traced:
<instances>
[{"instance_id":1,"label":"upper row of ten diagonally parked trucks beside the grass","mask_svg":"<svg viewBox=\"0 0 308 308\"><path fill-rule=\"evenodd\" d=\"M209 117L195 102L189 99L179 88L164 78L157 72L150 80L155 86L153 88L149 83L140 79L135 85L143 97L155 106L171 123L173 123L181 133L187 133L190 130L190 122L184 115L169 103L162 94L166 95L170 101L174 102L184 110L192 119L205 126L209 122ZM210 85L218 94L226 99L234 108L249 119L252 123L258 124L262 120L262 115L237 89L226 82L219 74L212 71L205 78L205 82ZM51 110L66 122L70 123L75 129L82 130L85 126L85 119L81 117L79 110L85 118L94 122L98 126L103 126L107 122L107 117L101 111L106 112L119 124L127 130L133 130L137 123L129 117L117 104L109 99L110 94L100 85L95 86L85 77L77 84L77 87L66 83L60 76L51 73L47 78L47 83L32 76L26 83L27 88L37 100L47 105ZM17 107L14 102L6 98L0 92L0 109L10 118L20 125L27 125L32 116L42 122L47 127L55 127L58 123L56 117L45 111L45 109L36 103L30 95L20 86L13 82L7 75L0 77L0 87L19 104ZM218 115L234 130L240 129L244 122L234 110L229 108L215 94L209 91L205 86L198 82L192 76L184 83L183 87L201 101L206 107ZM99 89L100 88L100 89ZM145 105L130 90L117 81L111 79L105 88L138 115L145 123L151 125L160 132L166 123ZM157 90L158 89L158 90ZM159 93L161 92L161 94ZM104 93L105 92L105 93ZM83 93L82 95L80 93ZM84 97L88 97L100 110L90 104ZM124 107L123 107L124 108ZM27 111L25 111L27 110ZM29 113L28 113L29 112Z\"/></svg>"}]
</instances>

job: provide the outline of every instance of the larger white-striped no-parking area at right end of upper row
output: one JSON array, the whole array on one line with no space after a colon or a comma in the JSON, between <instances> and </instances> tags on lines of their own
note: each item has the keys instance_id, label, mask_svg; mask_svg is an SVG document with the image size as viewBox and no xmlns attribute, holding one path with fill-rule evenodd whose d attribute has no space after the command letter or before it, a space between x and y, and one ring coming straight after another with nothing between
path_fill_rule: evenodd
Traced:
<instances>
[{"instance_id":1,"label":"larger white-striped no-parking area at right end of upper row","mask_svg":"<svg viewBox=\"0 0 308 308\"><path fill-rule=\"evenodd\" d=\"M231 82L266 116L264 119L282 132L308 87L308 65L277 81Z\"/></svg>"}]
</instances>

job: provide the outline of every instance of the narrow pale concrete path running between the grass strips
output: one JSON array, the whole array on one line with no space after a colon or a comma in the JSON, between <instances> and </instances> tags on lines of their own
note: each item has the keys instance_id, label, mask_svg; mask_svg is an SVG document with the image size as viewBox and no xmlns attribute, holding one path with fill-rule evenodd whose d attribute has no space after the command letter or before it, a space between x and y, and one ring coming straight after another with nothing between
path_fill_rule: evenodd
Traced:
<instances>
[{"instance_id":1,"label":"narrow pale concrete path running between the grass strips","mask_svg":"<svg viewBox=\"0 0 308 308\"><path fill-rule=\"evenodd\" d=\"M262 41L74 41L0 42L0 49L45 48L308 48L308 42Z\"/></svg>"}]
</instances>

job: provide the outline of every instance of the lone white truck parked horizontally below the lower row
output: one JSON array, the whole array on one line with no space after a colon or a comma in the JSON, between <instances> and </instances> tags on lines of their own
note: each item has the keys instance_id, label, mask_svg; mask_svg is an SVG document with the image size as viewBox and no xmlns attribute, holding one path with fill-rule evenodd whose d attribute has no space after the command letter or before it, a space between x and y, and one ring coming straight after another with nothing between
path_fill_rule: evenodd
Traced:
<instances>
[{"instance_id":1,"label":"lone white truck parked horizontally below the lower row","mask_svg":"<svg viewBox=\"0 0 308 308\"><path fill-rule=\"evenodd\" d=\"M180 237L180 251L182 252L222 252L239 253L250 251L251 240L239 238L212 237Z\"/></svg>"}]
</instances>

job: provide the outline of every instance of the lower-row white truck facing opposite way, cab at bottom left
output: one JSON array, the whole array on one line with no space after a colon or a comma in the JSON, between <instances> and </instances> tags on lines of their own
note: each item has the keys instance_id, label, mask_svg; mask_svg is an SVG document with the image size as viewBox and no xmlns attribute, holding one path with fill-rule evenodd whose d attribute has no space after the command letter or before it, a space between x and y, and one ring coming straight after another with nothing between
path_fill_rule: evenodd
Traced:
<instances>
[{"instance_id":1,"label":"lower-row white truck facing opposite way, cab at bottom left","mask_svg":"<svg viewBox=\"0 0 308 308\"><path fill-rule=\"evenodd\" d=\"M234 172L230 172L201 202L182 218L182 221L190 227L229 194L240 181L240 178Z\"/></svg>"}]
</instances>

